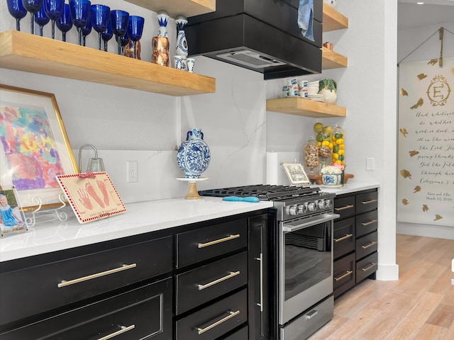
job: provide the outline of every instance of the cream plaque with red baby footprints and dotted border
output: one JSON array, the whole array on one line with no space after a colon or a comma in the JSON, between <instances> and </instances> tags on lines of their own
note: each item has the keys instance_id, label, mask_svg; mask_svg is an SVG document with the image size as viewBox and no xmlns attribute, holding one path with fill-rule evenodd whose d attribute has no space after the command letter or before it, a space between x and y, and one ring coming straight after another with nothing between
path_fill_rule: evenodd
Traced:
<instances>
[{"instance_id":1,"label":"cream plaque with red baby footprints and dotted border","mask_svg":"<svg viewBox=\"0 0 454 340\"><path fill-rule=\"evenodd\" d=\"M126 212L126 208L106 172L57 176L80 223L101 220Z\"/></svg>"}]
</instances>

